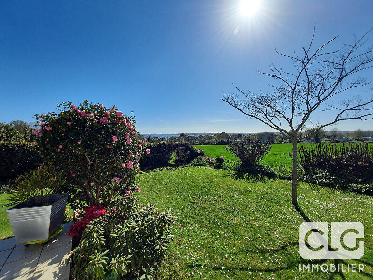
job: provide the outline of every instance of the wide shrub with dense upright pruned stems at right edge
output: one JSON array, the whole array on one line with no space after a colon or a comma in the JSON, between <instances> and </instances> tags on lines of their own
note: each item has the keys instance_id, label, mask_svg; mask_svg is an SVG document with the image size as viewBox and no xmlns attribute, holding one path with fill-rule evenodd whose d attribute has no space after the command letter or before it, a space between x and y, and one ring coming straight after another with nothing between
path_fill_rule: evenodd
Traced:
<instances>
[{"instance_id":1,"label":"wide shrub with dense upright pruned stems at right edge","mask_svg":"<svg viewBox=\"0 0 373 280\"><path fill-rule=\"evenodd\" d=\"M298 152L303 178L313 187L356 190L372 184L373 146L367 143L301 146Z\"/></svg>"}]
</instances>

